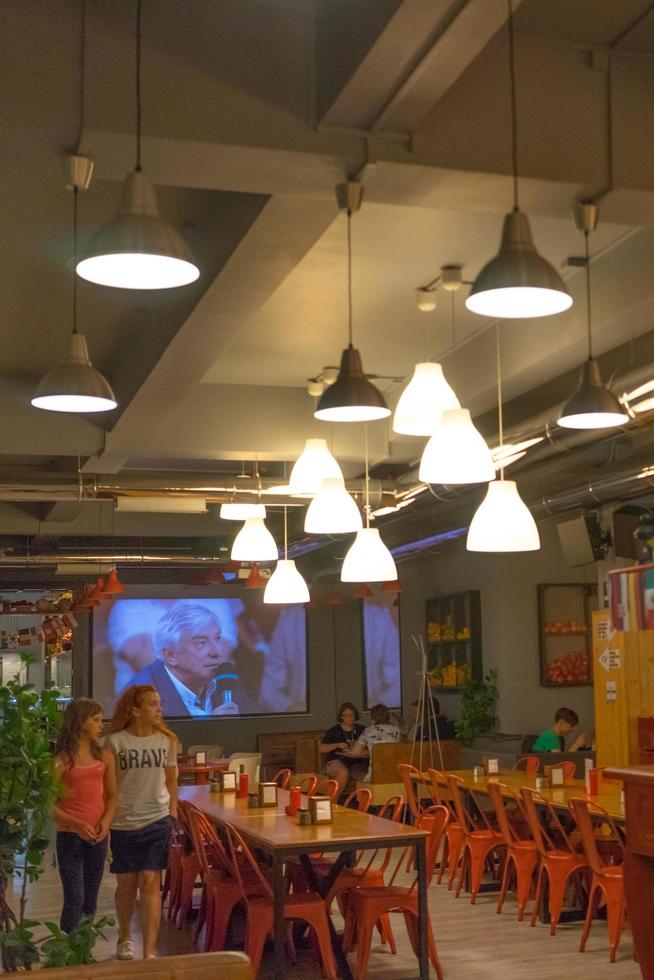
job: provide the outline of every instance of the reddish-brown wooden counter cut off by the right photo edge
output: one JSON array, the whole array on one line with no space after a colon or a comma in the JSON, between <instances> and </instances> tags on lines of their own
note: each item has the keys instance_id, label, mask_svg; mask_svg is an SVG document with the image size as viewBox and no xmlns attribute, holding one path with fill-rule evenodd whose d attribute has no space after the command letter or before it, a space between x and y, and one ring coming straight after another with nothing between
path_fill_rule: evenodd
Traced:
<instances>
[{"instance_id":1,"label":"reddish-brown wooden counter cut off by the right photo edge","mask_svg":"<svg viewBox=\"0 0 654 980\"><path fill-rule=\"evenodd\" d=\"M627 846L624 886L643 980L654 980L654 766L608 769L624 782Z\"/></svg>"}]
</instances>

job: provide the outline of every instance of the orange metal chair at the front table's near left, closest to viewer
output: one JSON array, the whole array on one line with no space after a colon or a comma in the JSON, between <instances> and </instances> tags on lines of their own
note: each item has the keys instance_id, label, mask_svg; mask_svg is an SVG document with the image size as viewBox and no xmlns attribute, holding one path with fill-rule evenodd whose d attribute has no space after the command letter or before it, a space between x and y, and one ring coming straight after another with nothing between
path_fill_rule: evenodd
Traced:
<instances>
[{"instance_id":1,"label":"orange metal chair at the front table's near left, closest to viewer","mask_svg":"<svg viewBox=\"0 0 654 980\"><path fill-rule=\"evenodd\" d=\"M223 827L235 878L240 885L241 899L247 910L245 952L252 961L252 973L257 976L266 937L272 933L273 929L273 892L238 830L227 823ZM248 887L240 867L241 863L248 869L251 878L258 879L258 895L253 895ZM324 899L316 892L286 895L284 898L284 918L287 920L300 919L311 926L318 942L327 980L336 980L336 962L331 947L329 921Z\"/></svg>"}]
</instances>

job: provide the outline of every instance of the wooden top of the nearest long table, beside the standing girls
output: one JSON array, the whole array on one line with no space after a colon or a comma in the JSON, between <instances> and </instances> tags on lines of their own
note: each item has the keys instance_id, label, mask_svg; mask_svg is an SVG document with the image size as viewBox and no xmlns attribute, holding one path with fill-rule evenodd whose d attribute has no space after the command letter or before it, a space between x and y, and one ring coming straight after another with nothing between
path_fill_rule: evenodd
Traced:
<instances>
[{"instance_id":1,"label":"wooden top of the nearest long table, beside the standing girls","mask_svg":"<svg viewBox=\"0 0 654 980\"><path fill-rule=\"evenodd\" d=\"M408 846L426 837L423 830L383 820L349 807L334 806L330 824L299 826L296 817L284 812L288 793L279 790L276 807L248 807L235 793L211 793L208 786L180 786L180 800L194 803L214 820L231 823L244 836L265 850L297 851ZM303 797L303 806L306 797Z\"/></svg>"}]
</instances>

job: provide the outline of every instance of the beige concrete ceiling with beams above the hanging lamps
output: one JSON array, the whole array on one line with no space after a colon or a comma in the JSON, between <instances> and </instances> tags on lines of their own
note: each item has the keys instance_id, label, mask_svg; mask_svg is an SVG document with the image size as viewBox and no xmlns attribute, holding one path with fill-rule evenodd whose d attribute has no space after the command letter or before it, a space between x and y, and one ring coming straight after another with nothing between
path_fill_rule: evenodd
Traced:
<instances>
[{"instance_id":1,"label":"beige concrete ceiling with beams above the hanging lamps","mask_svg":"<svg viewBox=\"0 0 654 980\"><path fill-rule=\"evenodd\" d=\"M565 266L582 249L570 217L579 198L601 197L591 248L603 366L620 378L652 364L653 7L514 0L521 204L576 301L569 314L502 326L505 397L521 424L538 386L547 385L533 411L555 411L584 357L583 278ZM325 435L305 385L338 363L346 340L333 186L347 176L366 192L353 223L366 369L405 378L438 355L464 404L476 415L494 409L494 325L465 311L464 288L452 350L449 297L439 292L425 315L413 293L444 264L474 278L511 205L505 0L145 0L144 165L202 275L161 293L82 284L80 326L120 407L100 419L32 409L31 390L70 329L62 159L79 148L96 164L80 202L82 247L133 166L135 3L87 0L83 98L81 9L81 0L0 7L0 483L25 466L47 473L52 459L74 479L78 457L91 480L209 477L255 456L277 475L307 437ZM380 386L394 403L401 383ZM329 435L348 475L362 464L352 428ZM373 462L396 472L422 445L386 423L370 440ZM0 512L0 532L27 533L17 506ZM180 534L187 527L188 518ZM70 522L71 534L90 530Z\"/></svg>"}]
</instances>

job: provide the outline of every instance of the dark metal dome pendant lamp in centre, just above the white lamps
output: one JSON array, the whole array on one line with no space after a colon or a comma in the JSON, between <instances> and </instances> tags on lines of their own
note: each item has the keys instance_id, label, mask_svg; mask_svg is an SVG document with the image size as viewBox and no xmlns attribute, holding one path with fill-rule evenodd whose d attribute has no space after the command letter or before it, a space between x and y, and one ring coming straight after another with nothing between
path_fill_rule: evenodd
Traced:
<instances>
[{"instance_id":1,"label":"dark metal dome pendant lamp in centre, just above the white lamps","mask_svg":"<svg viewBox=\"0 0 654 980\"><path fill-rule=\"evenodd\" d=\"M363 200L363 187L354 181L338 184L336 200L347 213L347 299L349 343L341 355L341 366L333 385L323 392L313 413L325 422L372 422L386 418L390 409L384 396L363 373L361 355L352 346L352 212Z\"/></svg>"}]
</instances>

